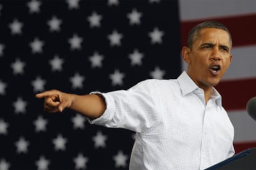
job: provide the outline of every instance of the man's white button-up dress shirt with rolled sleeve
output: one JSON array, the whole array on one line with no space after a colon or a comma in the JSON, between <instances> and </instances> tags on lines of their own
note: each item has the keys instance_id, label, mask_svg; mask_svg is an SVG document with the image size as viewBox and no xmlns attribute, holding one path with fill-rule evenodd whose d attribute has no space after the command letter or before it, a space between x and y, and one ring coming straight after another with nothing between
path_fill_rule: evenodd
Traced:
<instances>
[{"instance_id":1,"label":"man's white button-up dress shirt with rolled sleeve","mask_svg":"<svg viewBox=\"0 0 256 170\"><path fill-rule=\"evenodd\" d=\"M130 170L205 169L234 154L234 127L213 88L204 92L184 71L103 93L106 111L91 123L137 132Z\"/></svg>"}]
</instances>

